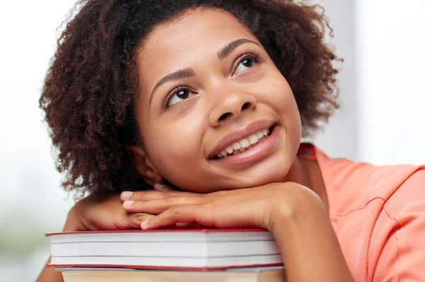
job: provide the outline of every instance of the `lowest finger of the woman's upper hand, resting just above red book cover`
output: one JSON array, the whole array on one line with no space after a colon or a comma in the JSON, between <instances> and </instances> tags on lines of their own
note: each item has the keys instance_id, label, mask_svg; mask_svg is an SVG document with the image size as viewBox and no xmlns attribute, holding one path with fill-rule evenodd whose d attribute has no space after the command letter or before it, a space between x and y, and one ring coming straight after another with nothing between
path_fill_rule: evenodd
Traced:
<instances>
[{"instance_id":1,"label":"lowest finger of the woman's upper hand, resting just above red book cover","mask_svg":"<svg viewBox=\"0 0 425 282\"><path fill-rule=\"evenodd\" d=\"M147 230L175 225L176 223L191 222L197 222L208 227L213 226L214 222L205 220L202 211L201 205L174 205L165 210L164 213L145 220L142 222L141 227L143 230Z\"/></svg>"}]
</instances>

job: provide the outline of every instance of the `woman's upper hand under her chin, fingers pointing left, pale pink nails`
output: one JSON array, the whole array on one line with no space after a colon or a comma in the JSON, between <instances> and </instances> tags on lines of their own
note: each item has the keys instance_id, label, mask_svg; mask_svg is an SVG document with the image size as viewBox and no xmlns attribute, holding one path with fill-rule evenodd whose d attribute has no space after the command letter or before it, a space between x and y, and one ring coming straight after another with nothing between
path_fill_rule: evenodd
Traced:
<instances>
[{"instance_id":1,"label":"woman's upper hand under her chin, fingers pointing left, pale pink nails","mask_svg":"<svg viewBox=\"0 0 425 282\"><path fill-rule=\"evenodd\" d=\"M196 222L205 227L263 227L272 230L282 210L290 214L293 207L305 205L307 198L320 201L309 188L295 183L274 183L208 194L180 191L121 194L123 208L128 213L151 214L142 222L142 229Z\"/></svg>"}]
</instances>

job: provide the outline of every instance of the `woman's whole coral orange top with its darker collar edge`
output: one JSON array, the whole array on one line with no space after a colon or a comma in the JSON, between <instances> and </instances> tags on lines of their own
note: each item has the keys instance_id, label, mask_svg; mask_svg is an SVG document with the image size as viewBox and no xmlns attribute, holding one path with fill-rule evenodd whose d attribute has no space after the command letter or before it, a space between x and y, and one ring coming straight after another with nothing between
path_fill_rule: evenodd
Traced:
<instances>
[{"instance_id":1,"label":"woman's whole coral orange top with its darker collar edge","mask_svg":"<svg viewBox=\"0 0 425 282\"><path fill-rule=\"evenodd\" d=\"M355 281L425 281L425 166L329 159L313 145L329 216Z\"/></svg>"}]
</instances>

